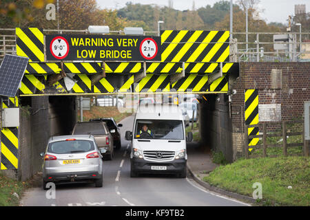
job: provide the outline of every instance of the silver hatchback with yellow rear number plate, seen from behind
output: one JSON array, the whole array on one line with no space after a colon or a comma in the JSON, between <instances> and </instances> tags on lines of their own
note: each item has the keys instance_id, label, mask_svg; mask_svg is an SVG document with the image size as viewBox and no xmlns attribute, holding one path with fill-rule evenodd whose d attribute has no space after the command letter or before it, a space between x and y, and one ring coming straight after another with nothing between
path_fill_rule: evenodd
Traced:
<instances>
[{"instance_id":1,"label":"silver hatchback with yellow rear number plate, seen from behind","mask_svg":"<svg viewBox=\"0 0 310 220\"><path fill-rule=\"evenodd\" d=\"M103 186L105 149L96 146L92 135L63 135L51 137L43 157L43 189L48 182L92 181Z\"/></svg>"}]
</instances>

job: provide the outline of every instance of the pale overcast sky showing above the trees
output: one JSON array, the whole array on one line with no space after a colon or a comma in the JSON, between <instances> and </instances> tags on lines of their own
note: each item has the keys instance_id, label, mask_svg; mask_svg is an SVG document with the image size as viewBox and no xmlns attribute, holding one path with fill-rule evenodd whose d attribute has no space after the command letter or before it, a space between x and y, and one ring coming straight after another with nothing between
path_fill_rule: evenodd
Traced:
<instances>
[{"instance_id":1,"label":"pale overcast sky showing above the trees","mask_svg":"<svg viewBox=\"0 0 310 220\"><path fill-rule=\"evenodd\" d=\"M141 4L156 4L159 6L168 6L169 0L96 0L100 8L107 9L119 9L125 7L125 3L131 1L132 3ZM193 1L195 2L195 8L205 7L205 5L214 5L214 3L220 0L172 0L173 8L176 10L188 10L192 9ZM228 0L230 1L230 0ZM236 3L237 0L233 0ZM270 22L279 22L286 24L289 15L295 14L294 5L305 4L306 12L310 12L309 0L260 0L258 8L264 10L260 17Z\"/></svg>"}]
</instances>

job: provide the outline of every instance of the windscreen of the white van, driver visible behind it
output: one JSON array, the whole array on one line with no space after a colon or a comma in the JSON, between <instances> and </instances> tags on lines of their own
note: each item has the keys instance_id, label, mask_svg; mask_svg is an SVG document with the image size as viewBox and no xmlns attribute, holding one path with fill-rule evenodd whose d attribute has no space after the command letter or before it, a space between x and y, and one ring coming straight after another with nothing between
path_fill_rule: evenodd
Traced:
<instances>
[{"instance_id":1,"label":"windscreen of the white van, driver visible behind it","mask_svg":"<svg viewBox=\"0 0 310 220\"><path fill-rule=\"evenodd\" d=\"M136 120L136 139L184 140L182 120Z\"/></svg>"}]
</instances>

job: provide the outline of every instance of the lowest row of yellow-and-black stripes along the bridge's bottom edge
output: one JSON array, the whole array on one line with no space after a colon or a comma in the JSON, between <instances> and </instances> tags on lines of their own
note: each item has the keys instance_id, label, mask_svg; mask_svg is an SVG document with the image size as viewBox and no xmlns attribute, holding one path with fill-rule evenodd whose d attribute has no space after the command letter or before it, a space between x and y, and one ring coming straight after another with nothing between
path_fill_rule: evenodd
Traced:
<instances>
[{"instance_id":1,"label":"lowest row of yellow-and-black stripes along the bridge's bottom edge","mask_svg":"<svg viewBox=\"0 0 310 220\"><path fill-rule=\"evenodd\" d=\"M138 83L134 83L135 75L127 75L120 78L114 74L107 74L99 82L92 85L91 76L87 74L75 74L76 81L72 89L68 91L63 79L48 86L48 75L25 75L21 81L19 95L30 94L96 94L118 92L220 92L228 91L228 74L208 83L207 74L185 74L184 78L171 85L169 74L147 74Z\"/></svg>"}]
</instances>

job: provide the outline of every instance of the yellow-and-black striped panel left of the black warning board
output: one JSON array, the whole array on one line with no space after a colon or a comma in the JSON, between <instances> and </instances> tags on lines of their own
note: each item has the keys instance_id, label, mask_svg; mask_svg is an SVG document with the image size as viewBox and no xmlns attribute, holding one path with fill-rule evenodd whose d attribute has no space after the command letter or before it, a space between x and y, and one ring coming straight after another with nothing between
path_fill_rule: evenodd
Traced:
<instances>
[{"instance_id":1,"label":"yellow-and-black striped panel left of the black warning board","mask_svg":"<svg viewBox=\"0 0 310 220\"><path fill-rule=\"evenodd\" d=\"M16 28L18 56L29 58L29 62L44 62L44 35L39 28Z\"/></svg>"}]
</instances>

